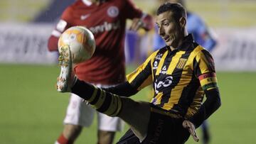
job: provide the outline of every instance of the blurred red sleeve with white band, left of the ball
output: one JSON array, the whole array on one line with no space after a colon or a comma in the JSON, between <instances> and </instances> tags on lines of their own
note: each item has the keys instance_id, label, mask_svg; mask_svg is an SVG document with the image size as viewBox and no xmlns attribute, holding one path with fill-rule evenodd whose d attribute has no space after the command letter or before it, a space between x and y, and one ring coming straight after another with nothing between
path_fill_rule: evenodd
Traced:
<instances>
[{"instance_id":1,"label":"blurred red sleeve with white band, left of the ball","mask_svg":"<svg viewBox=\"0 0 256 144\"><path fill-rule=\"evenodd\" d=\"M52 31L50 38L48 39L48 50L58 51L58 38L60 38L61 33L66 29L70 28L72 21L72 9L68 7L63 12L60 21L58 21L55 29Z\"/></svg>"}]
</instances>

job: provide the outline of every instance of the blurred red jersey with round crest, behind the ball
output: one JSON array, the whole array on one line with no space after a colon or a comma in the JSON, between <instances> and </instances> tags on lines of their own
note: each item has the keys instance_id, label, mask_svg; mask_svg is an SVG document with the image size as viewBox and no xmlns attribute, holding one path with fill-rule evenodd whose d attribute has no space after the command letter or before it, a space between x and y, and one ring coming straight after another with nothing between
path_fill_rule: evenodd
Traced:
<instances>
[{"instance_id":1,"label":"blurred red jersey with round crest, behind the ball","mask_svg":"<svg viewBox=\"0 0 256 144\"><path fill-rule=\"evenodd\" d=\"M142 11L129 0L109 0L100 4L79 0L63 12L53 31L48 49L58 50L60 33L71 26L85 26L95 36L94 55L75 66L79 79L94 84L118 84L125 79L124 33L127 18L141 18ZM55 38L54 38L55 37Z\"/></svg>"}]
</instances>

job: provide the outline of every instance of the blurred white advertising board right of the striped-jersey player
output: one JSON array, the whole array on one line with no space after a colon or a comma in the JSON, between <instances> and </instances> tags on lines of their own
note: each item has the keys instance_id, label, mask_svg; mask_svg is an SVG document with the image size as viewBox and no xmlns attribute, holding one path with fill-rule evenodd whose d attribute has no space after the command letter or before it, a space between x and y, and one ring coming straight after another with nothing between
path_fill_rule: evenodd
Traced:
<instances>
[{"instance_id":1,"label":"blurred white advertising board right of the striped-jersey player","mask_svg":"<svg viewBox=\"0 0 256 144\"><path fill-rule=\"evenodd\" d=\"M256 70L256 27L217 28L218 45L213 50L217 70Z\"/></svg>"}]
</instances>

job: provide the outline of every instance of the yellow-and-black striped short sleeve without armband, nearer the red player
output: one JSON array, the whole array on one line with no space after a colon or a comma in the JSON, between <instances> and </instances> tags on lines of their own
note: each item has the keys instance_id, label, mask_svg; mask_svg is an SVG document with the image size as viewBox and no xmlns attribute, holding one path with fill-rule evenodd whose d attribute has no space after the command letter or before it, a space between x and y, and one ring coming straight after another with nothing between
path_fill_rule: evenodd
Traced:
<instances>
[{"instance_id":1,"label":"yellow-and-black striped short sleeve without armband, nearer the red player","mask_svg":"<svg viewBox=\"0 0 256 144\"><path fill-rule=\"evenodd\" d=\"M134 72L127 74L127 82L129 82L129 84L131 84L132 87L135 87L138 91L153 83L151 61L155 55L156 52L151 54L142 65L137 67Z\"/></svg>"}]
</instances>

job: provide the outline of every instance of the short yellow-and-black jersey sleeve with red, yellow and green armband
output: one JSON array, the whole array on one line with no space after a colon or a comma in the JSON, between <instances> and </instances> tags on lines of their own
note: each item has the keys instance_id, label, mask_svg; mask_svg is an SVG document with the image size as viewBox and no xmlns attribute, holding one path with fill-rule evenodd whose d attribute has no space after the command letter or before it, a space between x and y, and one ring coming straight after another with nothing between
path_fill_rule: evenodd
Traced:
<instances>
[{"instance_id":1,"label":"short yellow-and-black jersey sleeve with red, yellow and green armband","mask_svg":"<svg viewBox=\"0 0 256 144\"><path fill-rule=\"evenodd\" d=\"M207 50L198 52L193 67L204 91L218 88L213 57Z\"/></svg>"}]
</instances>

